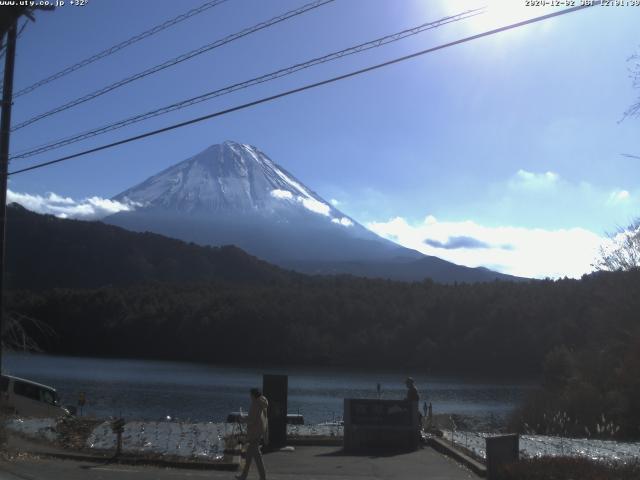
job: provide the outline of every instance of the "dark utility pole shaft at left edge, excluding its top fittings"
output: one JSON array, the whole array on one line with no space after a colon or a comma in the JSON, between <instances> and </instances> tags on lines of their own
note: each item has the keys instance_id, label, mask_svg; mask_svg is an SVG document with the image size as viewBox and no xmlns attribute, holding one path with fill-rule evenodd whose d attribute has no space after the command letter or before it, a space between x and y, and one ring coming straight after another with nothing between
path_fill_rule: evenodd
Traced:
<instances>
[{"instance_id":1,"label":"dark utility pole shaft at left edge, excluding its top fittings","mask_svg":"<svg viewBox=\"0 0 640 480\"><path fill-rule=\"evenodd\" d=\"M2 371L2 342L4 341L4 251L7 225L7 174L9 172L9 134L11 130L11 102L13 98L13 68L16 58L16 25L7 30L7 52L4 62L2 88L2 118L0 119L0 372Z\"/></svg>"}]
</instances>

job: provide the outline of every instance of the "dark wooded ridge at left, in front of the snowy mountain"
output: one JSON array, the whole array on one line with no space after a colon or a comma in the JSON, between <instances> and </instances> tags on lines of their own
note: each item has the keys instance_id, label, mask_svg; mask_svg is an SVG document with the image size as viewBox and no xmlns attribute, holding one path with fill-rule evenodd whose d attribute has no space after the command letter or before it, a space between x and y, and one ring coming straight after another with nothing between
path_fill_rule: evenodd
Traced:
<instances>
[{"instance_id":1,"label":"dark wooded ridge at left, in front of the snowy mountain","mask_svg":"<svg viewBox=\"0 0 640 480\"><path fill-rule=\"evenodd\" d=\"M101 222L7 207L8 288L94 288L147 282L284 283L286 272L234 246L202 247Z\"/></svg>"}]
</instances>

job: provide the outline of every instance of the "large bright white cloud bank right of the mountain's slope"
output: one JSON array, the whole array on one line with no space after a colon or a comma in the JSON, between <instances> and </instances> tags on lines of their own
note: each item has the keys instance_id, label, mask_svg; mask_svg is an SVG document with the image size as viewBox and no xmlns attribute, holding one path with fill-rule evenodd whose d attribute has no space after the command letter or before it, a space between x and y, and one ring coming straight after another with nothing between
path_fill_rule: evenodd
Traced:
<instances>
[{"instance_id":1,"label":"large bright white cloud bank right of the mountain's slope","mask_svg":"<svg viewBox=\"0 0 640 480\"><path fill-rule=\"evenodd\" d=\"M367 227L426 255L531 278L579 278L591 272L604 241L583 228L488 227L473 221L442 222L431 215L414 224L396 217Z\"/></svg>"}]
</instances>

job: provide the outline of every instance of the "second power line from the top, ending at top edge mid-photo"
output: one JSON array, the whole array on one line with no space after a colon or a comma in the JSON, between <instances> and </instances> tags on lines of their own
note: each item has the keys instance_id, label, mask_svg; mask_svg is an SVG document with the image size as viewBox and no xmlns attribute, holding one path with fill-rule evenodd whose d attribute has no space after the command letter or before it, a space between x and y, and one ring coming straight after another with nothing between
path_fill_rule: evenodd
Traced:
<instances>
[{"instance_id":1,"label":"second power line from the top, ending at top edge mid-photo","mask_svg":"<svg viewBox=\"0 0 640 480\"><path fill-rule=\"evenodd\" d=\"M194 57L196 57L197 55L201 55L205 52L208 52L210 50L213 50L215 48L221 47L222 45L226 45L227 43L233 42L235 40L238 40L242 37L245 37L247 35L250 35L252 33L255 33L259 30L271 27L275 24L278 24L280 22L283 22L285 20L288 20L290 18L296 17L298 15L302 15L303 13L306 13L310 10L319 8L323 5L326 5L327 3L331 3L334 2L335 0L315 0L311 3L308 3L306 5L303 5L302 7L296 8L294 10L290 10L286 13L283 13L281 15L278 15L276 17L271 18L270 20L267 20L265 22L260 22L256 25L253 25L251 27L245 28L244 30L241 30L239 32L233 33L231 35L228 35L224 38L221 38L219 40L216 40L215 42L209 43L207 45L203 45L200 48L197 48L195 50L191 50L190 52L187 53L183 53L182 55L179 55L175 58L172 58L170 60L167 60L166 62L163 62L159 65L156 65L154 67L148 68L142 72L136 73L135 75L132 75L130 77L124 78L122 80L119 80L115 83L112 83L110 85L107 85L106 87L103 87L99 90L96 90L92 93L89 93L87 95L84 95L82 97L76 98L75 100L71 100L70 102L65 103L64 105L60 105L59 107L56 107L52 110L49 110L47 112L41 113L39 115L36 115L35 117L32 117L28 120L25 120L22 123L19 123L18 125L14 126L11 131L16 131L16 130L20 130L21 128L24 128L28 125L31 125L35 122L38 122L40 120L42 120L43 118L47 118L50 117L51 115L55 115L56 113L60 113L63 112L65 110L68 110L69 108L75 107L76 105L80 105L81 103L85 103L88 102L90 100L93 100L97 97L100 97L102 95L104 95L105 93L111 92L112 90L115 90L117 88L120 88L124 85L127 85L129 83L135 82L136 80L140 80L141 78L147 77L149 75L152 75L154 73L158 73L161 70L164 70L165 68L169 68L172 67L174 65L177 65L178 63L184 62L186 60L190 60Z\"/></svg>"}]
</instances>

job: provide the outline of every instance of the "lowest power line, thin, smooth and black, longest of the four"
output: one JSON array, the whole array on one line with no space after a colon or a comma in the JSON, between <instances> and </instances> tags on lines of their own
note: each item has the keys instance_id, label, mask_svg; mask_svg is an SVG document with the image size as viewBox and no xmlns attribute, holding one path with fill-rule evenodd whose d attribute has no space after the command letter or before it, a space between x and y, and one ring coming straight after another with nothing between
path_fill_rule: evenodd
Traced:
<instances>
[{"instance_id":1,"label":"lowest power line, thin, smooth and black, longest of the four","mask_svg":"<svg viewBox=\"0 0 640 480\"><path fill-rule=\"evenodd\" d=\"M56 163L64 162L64 161L67 161L67 160L71 160L73 158L78 158L78 157L81 157L81 156L84 156L84 155L88 155L90 153L95 153L95 152L99 152L99 151L102 151L102 150L107 150L109 148L113 148L113 147L116 147L116 146L119 146L119 145L124 145L126 143L131 143L131 142L134 142L134 141L137 141L137 140L142 140L143 138L159 135L161 133L168 132L170 130L175 130L177 128L185 127L185 126L188 126L188 125L193 125L195 123L199 123L199 122L202 122L204 120L209 120L211 118L220 117L220 116L232 113L232 112L237 112L239 110L244 110L244 109L247 109L247 108L250 108L250 107L254 107L256 105L260 105L260 104L263 104L263 103L271 102L273 100L277 100L277 99L282 98L282 97L287 97L289 95L300 93L300 92L303 92L303 91L306 91L306 90L311 90L313 88L317 88L317 87L320 87L320 86L323 86L323 85L328 85L330 83L334 83L334 82L337 82L337 81L340 81L340 80L345 80L347 78L355 77L355 76L361 75L363 73L368 73L368 72L371 72L371 71L374 71L374 70L378 70L380 68L388 67L389 65L394 65L396 63L404 62L406 60L410 60L410 59L413 59L413 58L416 58L416 57L419 57L419 56L422 56L422 55L426 55L428 53L432 53L432 52L435 52L435 51L438 51L438 50L443 50L445 48L453 47L455 45L460 45L462 43L471 42L471 41L477 40L479 38L488 37L490 35L495 35L497 33L501 33L501 32L507 31L507 30L512 30L514 28L523 27L525 25L530 25L532 23L536 23L536 22L540 22L540 21L543 21L543 20L547 20L549 18L558 17L560 15L566 15L568 13L573 13L573 12L576 12L576 11L579 11L579 10L583 10L585 8L591 8L592 6L595 6L595 5L599 5L599 2L594 2L593 4L585 4L585 5L580 5L580 6L577 6L577 7L567 8L567 9L564 9L564 10L560 10L558 12L553 12L553 13L549 13L549 14L546 14L546 15L541 15L539 17L530 18L528 20L523 20L521 22L512 23L510 25L506 25L506 26L503 26L503 27L495 28L493 30L488 30L486 32L482 32L482 33L478 33L478 34L475 34L475 35L471 35L469 37L464 37L464 38L461 38L461 39L458 39L458 40L454 40L453 42L444 43L444 44L438 45L436 47L427 48L427 49L421 50L419 52L415 52L415 53L412 53L412 54L409 54L409 55L398 57L398 58L395 58L393 60L388 60L388 61L383 62L383 63L378 63L376 65L372 65L370 67L362 68L360 70L355 70L355 71L352 71L352 72L349 72L349 73L346 73L346 74L343 74L343 75L339 75L337 77L332 77L332 78L329 78L329 79L321 80L319 82L310 83L310 84L304 85L302 87L298 87L298 88L294 88L294 89L291 89L291 90L287 90L285 92L278 93L276 95L271 95L269 97L263 97L261 99L254 100L252 102L244 103L244 104L241 104L241 105L237 105L235 107L227 108L225 110L220 110L220 111L217 111L217 112L214 112L214 113L210 113L208 115L204 115L204 116L193 118L191 120L187 120L187 121L184 121L184 122L176 123L176 124L170 125L168 127L160 128L160 129L157 129L157 130L152 130L152 131L140 134L140 135L135 135L133 137L125 138L123 140L118 140L116 142L112 142L112 143L109 143L109 144L106 144L106 145L101 145L99 147L90 148L88 150L84 150L82 152L74 153L72 155L67 155L65 157L57 158L55 160L49 160L47 162L42 162L42 163L39 163L39 164L36 164L36 165L32 165L30 167L25 167L25 168L22 168L22 169L19 169L19 170L14 170L12 172L9 172L9 175L16 175L18 173L24 173L24 172L28 172L28 171L31 171L31 170L36 170L36 169L43 168L43 167L46 167L46 166L49 166L49 165L54 165Z\"/></svg>"}]
</instances>

